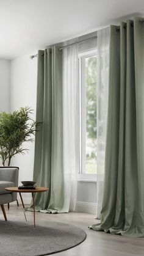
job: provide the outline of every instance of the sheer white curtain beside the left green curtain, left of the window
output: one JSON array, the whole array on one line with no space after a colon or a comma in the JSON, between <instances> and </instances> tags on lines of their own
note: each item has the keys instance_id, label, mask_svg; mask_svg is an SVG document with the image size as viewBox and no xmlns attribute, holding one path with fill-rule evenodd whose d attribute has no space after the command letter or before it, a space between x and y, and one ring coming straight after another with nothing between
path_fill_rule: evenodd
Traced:
<instances>
[{"instance_id":1,"label":"sheer white curtain beside the left green curtain, left of the window","mask_svg":"<svg viewBox=\"0 0 144 256\"><path fill-rule=\"evenodd\" d=\"M63 49L63 170L69 211L76 208L78 112L78 51L73 45Z\"/></svg>"}]
</instances>

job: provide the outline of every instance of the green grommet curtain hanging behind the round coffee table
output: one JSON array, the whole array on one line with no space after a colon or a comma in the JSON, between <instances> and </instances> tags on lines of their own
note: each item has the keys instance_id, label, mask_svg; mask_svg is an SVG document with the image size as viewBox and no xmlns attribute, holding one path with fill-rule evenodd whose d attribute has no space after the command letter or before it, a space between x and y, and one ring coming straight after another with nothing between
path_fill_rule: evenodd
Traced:
<instances>
[{"instance_id":1,"label":"green grommet curtain hanging behind the round coffee table","mask_svg":"<svg viewBox=\"0 0 144 256\"><path fill-rule=\"evenodd\" d=\"M65 212L63 208L62 53L53 46L38 51L37 113L34 181L48 192L36 193L37 211ZM32 205L31 205L32 207ZM29 210L32 210L32 208Z\"/></svg>"}]
</instances>

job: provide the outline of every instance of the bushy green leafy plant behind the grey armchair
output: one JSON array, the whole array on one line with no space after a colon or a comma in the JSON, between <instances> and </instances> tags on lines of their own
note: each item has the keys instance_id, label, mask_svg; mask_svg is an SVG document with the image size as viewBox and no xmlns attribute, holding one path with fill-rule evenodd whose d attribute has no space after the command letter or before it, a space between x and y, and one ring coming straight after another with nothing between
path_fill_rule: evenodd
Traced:
<instances>
[{"instance_id":1,"label":"bushy green leafy plant behind the grey armchair","mask_svg":"<svg viewBox=\"0 0 144 256\"><path fill-rule=\"evenodd\" d=\"M16 154L25 154L28 149L23 148L23 142L32 142L38 123L31 119L31 108L20 108L12 113L0 112L0 158L2 165Z\"/></svg>"}]
</instances>

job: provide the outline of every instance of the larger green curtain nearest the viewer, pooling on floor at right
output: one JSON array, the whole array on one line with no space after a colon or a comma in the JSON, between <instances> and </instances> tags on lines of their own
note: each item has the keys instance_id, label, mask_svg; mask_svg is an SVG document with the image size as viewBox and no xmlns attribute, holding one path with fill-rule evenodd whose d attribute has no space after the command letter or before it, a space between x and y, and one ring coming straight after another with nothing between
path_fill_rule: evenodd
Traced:
<instances>
[{"instance_id":1,"label":"larger green curtain nearest the viewer, pooling on floor at right","mask_svg":"<svg viewBox=\"0 0 144 256\"><path fill-rule=\"evenodd\" d=\"M144 24L110 27L109 108L101 223L90 226L144 236Z\"/></svg>"}]
</instances>

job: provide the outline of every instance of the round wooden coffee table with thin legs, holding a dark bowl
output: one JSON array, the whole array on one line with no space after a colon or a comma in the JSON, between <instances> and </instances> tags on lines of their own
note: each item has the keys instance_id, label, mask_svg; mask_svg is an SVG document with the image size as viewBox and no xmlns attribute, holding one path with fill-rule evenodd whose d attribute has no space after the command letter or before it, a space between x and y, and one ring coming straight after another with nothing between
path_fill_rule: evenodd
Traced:
<instances>
[{"instance_id":1,"label":"round wooden coffee table with thin legs, holding a dark bowl","mask_svg":"<svg viewBox=\"0 0 144 256\"><path fill-rule=\"evenodd\" d=\"M5 188L7 191L11 191L11 192L17 192L20 194L20 198L21 198L21 202L24 208L24 203L23 203L23 198L21 196L21 192L22 193L32 193L32 200L33 200L33 208L34 208L34 227L35 227L35 193L40 193L40 192L46 192L49 189L48 188L44 188L44 187L37 187L35 189L18 189L18 187L11 187L11 188ZM24 216L26 218L26 214L24 213ZM27 221L27 219L26 219Z\"/></svg>"}]
</instances>

